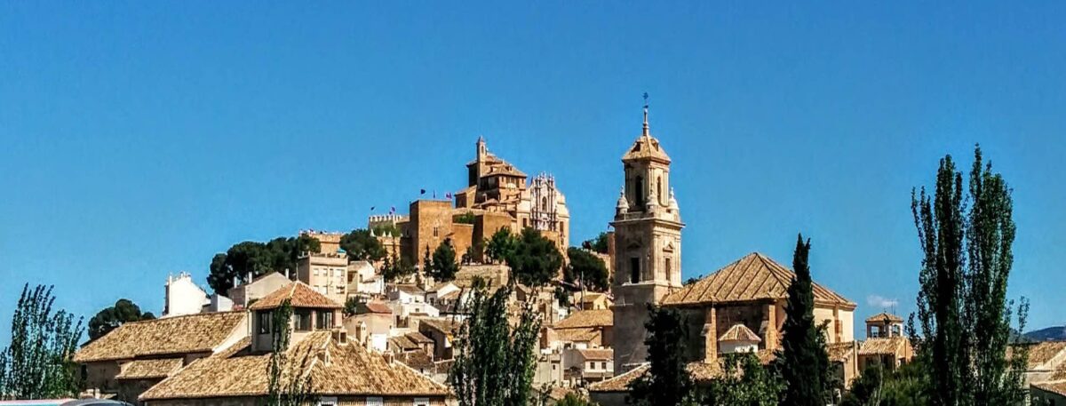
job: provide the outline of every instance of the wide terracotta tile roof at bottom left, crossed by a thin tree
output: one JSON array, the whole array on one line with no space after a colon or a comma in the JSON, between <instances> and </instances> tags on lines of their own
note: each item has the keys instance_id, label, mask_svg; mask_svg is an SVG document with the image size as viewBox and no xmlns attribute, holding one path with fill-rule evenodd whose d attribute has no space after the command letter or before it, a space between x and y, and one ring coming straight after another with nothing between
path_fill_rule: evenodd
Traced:
<instances>
[{"instance_id":1,"label":"wide terracotta tile roof at bottom left, crossed by a thin tree","mask_svg":"<svg viewBox=\"0 0 1066 406\"><path fill-rule=\"evenodd\" d=\"M248 340L224 354L200 359L143 394L141 401L261 396L268 393L270 354L248 355ZM329 331L316 331L295 343L291 359L309 359L302 373L310 376L317 395L445 396L448 389L359 345L338 345ZM328 361L326 361L328 359ZM261 371L261 373L258 373Z\"/></svg>"}]
</instances>

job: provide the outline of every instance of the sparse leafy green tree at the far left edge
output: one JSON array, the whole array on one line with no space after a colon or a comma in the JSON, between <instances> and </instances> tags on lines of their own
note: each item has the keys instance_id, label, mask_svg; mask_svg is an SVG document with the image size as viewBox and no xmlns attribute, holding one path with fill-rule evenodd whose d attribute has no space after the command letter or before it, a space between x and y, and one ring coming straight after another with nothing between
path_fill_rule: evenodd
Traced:
<instances>
[{"instance_id":1,"label":"sparse leafy green tree at the far left edge","mask_svg":"<svg viewBox=\"0 0 1066 406\"><path fill-rule=\"evenodd\" d=\"M82 319L54 310L52 287L22 287L11 321L11 345L0 352L0 400L72 397L81 381L71 360Z\"/></svg>"}]
</instances>

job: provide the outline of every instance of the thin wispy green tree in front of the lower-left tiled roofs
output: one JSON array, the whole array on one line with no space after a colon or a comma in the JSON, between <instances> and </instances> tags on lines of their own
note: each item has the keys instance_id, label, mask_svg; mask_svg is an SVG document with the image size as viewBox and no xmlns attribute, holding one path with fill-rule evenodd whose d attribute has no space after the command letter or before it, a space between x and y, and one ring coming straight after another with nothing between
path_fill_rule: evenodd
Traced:
<instances>
[{"instance_id":1,"label":"thin wispy green tree in front of the lower-left tiled roofs","mask_svg":"<svg viewBox=\"0 0 1066 406\"><path fill-rule=\"evenodd\" d=\"M311 367L312 357L309 354L291 356L288 352L291 339L292 306L286 299L280 307L274 309L271 318L271 359L266 373L270 376L265 405L268 406L305 406L317 402L311 394L311 377L303 374ZM300 359L295 359L300 358Z\"/></svg>"}]
</instances>

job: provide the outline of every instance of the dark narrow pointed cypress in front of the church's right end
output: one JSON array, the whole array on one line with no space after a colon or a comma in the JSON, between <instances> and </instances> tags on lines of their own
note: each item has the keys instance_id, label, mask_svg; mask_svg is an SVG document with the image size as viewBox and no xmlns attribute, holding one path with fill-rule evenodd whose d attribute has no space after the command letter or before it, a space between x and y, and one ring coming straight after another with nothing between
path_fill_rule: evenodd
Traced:
<instances>
[{"instance_id":1,"label":"dark narrow pointed cypress in front of the church's right end","mask_svg":"<svg viewBox=\"0 0 1066 406\"><path fill-rule=\"evenodd\" d=\"M814 324L814 291L808 265L809 254L810 240L804 242L801 234L792 257L795 280L789 286L779 359L781 377L787 384L784 396L786 405L822 406L829 400L825 380L829 370L829 356L824 338Z\"/></svg>"}]
</instances>

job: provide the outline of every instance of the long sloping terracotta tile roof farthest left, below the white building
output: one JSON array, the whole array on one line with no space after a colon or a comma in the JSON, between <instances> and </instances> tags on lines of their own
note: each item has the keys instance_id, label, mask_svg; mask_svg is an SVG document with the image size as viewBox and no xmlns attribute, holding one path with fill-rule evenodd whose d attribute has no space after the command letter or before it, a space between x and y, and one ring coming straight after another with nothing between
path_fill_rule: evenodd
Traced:
<instances>
[{"instance_id":1,"label":"long sloping terracotta tile roof farthest left, below the white building","mask_svg":"<svg viewBox=\"0 0 1066 406\"><path fill-rule=\"evenodd\" d=\"M126 323L78 350L75 362L207 353L224 345L243 322L243 311L198 313Z\"/></svg>"}]
</instances>

